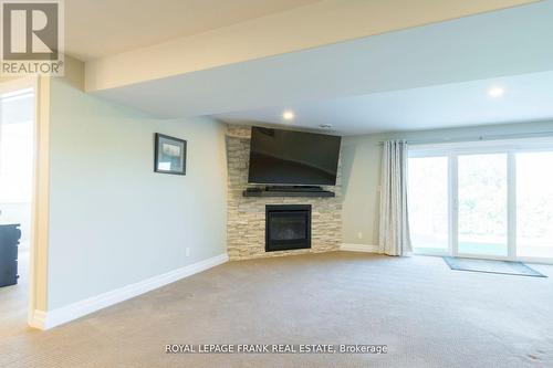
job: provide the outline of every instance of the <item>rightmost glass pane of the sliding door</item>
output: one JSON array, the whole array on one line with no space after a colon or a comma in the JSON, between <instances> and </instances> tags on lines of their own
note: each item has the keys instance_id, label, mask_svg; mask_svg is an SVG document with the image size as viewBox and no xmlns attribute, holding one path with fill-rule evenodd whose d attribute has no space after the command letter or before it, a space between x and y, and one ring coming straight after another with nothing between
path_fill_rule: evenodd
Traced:
<instances>
[{"instance_id":1,"label":"rightmost glass pane of the sliding door","mask_svg":"<svg viewBox=\"0 0 553 368\"><path fill-rule=\"evenodd\" d=\"M517 154L517 255L553 257L553 153Z\"/></svg>"}]
</instances>

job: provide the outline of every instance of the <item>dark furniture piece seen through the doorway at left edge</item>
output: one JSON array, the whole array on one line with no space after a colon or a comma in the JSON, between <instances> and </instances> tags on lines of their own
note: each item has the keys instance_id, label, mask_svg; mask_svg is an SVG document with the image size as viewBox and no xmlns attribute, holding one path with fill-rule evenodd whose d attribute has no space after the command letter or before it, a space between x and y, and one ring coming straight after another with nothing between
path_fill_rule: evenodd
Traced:
<instances>
[{"instance_id":1,"label":"dark furniture piece seen through the doorway at left edge","mask_svg":"<svg viewBox=\"0 0 553 368\"><path fill-rule=\"evenodd\" d=\"M18 283L19 223L0 224L0 287Z\"/></svg>"}]
</instances>

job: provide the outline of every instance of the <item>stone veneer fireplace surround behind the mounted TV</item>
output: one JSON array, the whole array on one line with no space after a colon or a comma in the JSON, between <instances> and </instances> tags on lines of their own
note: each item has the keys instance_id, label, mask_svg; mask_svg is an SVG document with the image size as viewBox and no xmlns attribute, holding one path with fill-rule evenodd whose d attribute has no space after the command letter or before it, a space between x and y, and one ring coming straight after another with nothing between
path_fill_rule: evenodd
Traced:
<instances>
[{"instance_id":1,"label":"stone veneer fireplace surround behind the mounted TV","mask_svg":"<svg viewBox=\"0 0 553 368\"><path fill-rule=\"evenodd\" d=\"M227 133L228 214L227 242L230 260L337 251L342 242L341 170L336 186L323 187L333 198L243 197L248 188L249 126L229 125ZM265 252L265 206L310 204L311 248Z\"/></svg>"}]
</instances>

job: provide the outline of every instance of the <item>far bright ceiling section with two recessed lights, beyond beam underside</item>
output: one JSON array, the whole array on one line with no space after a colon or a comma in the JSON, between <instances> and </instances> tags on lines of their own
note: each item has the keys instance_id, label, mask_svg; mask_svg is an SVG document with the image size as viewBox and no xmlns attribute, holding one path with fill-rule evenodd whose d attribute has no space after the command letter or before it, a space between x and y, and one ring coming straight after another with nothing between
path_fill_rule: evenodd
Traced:
<instances>
[{"instance_id":1,"label":"far bright ceiling section with two recessed lights, beyond beam underside","mask_svg":"<svg viewBox=\"0 0 553 368\"><path fill-rule=\"evenodd\" d=\"M491 97L492 87L504 88ZM293 111L293 122L282 112ZM344 134L431 129L494 123L553 122L553 72L446 84L216 115L234 124L276 124Z\"/></svg>"}]
</instances>

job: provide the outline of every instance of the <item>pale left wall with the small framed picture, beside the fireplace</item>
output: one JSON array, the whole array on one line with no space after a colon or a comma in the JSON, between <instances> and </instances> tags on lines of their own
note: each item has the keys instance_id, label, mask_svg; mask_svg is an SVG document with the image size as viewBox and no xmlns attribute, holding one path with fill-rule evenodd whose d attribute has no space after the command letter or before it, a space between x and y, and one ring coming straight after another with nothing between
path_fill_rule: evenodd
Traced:
<instances>
[{"instance_id":1,"label":"pale left wall with the small framed picture, beside the fireplace","mask_svg":"<svg viewBox=\"0 0 553 368\"><path fill-rule=\"evenodd\" d=\"M154 172L156 132L187 140L186 176ZM52 78L49 311L226 253L225 132Z\"/></svg>"}]
</instances>

